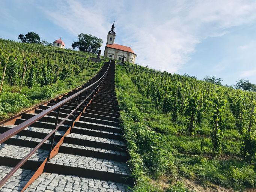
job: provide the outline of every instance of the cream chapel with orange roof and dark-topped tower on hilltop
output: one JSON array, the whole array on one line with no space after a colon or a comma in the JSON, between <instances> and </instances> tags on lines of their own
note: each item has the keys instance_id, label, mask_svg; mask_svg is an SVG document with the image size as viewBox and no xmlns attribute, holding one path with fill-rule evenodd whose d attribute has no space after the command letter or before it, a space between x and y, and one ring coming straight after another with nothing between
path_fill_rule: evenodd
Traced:
<instances>
[{"instance_id":1,"label":"cream chapel with orange roof and dark-topped tower on hilltop","mask_svg":"<svg viewBox=\"0 0 256 192\"><path fill-rule=\"evenodd\" d=\"M130 63L135 63L136 54L129 46L118 45L114 43L116 33L114 32L114 23L111 27L111 31L108 31L107 44L105 46L104 56L122 60L122 57L125 57L125 61Z\"/></svg>"}]
</instances>

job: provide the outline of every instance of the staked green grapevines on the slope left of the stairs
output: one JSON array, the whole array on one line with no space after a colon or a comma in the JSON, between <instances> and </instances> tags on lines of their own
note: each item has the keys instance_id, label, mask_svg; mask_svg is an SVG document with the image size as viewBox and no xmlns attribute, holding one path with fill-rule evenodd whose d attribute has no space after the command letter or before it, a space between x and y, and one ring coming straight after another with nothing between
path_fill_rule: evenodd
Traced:
<instances>
[{"instance_id":1,"label":"staked green grapevines on the slope left of the stairs","mask_svg":"<svg viewBox=\"0 0 256 192\"><path fill-rule=\"evenodd\" d=\"M96 55L0 39L0 69L3 69L0 80L29 88L35 84L49 85L98 65L90 57ZM2 89L3 83L0 92Z\"/></svg>"}]
</instances>

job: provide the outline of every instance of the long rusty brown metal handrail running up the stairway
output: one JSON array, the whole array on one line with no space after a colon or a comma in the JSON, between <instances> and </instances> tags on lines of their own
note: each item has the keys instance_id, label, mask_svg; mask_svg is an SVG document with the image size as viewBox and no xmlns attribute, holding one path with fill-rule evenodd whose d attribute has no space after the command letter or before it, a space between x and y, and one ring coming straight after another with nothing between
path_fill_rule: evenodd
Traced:
<instances>
[{"instance_id":1,"label":"long rusty brown metal handrail running up the stairway","mask_svg":"<svg viewBox=\"0 0 256 192\"><path fill-rule=\"evenodd\" d=\"M102 84L103 80L105 79L106 75L107 75L107 72L108 72L108 69L110 67L110 63L111 63L111 60L109 61L109 64L108 64L108 68L107 68L107 71L104 73L104 75L102 75L101 78L99 78L98 81L94 82L93 84L91 84L90 86L87 86L86 88L80 90L79 92L75 93L74 95L71 95L69 96L68 98L60 101L59 103L53 105L52 107L48 108L47 110L45 111L42 111L41 113L35 115L34 117L32 118L29 118L28 120L24 121L23 123L21 124L18 124L17 126L15 126L14 128L2 133L0 135L0 144L2 144L3 142L5 142L7 139L11 138L12 136L16 135L17 133L19 133L21 130L25 129L26 127L30 126L31 124L35 123L36 121L38 121L39 119L41 119L42 117L44 117L45 115L51 113L52 111L56 110L57 108L59 108L58 110L58 113L57 113L57 116L56 116L56 123L55 123L55 129L53 129L38 145L36 145L35 148L33 148L29 154L26 155L26 157L24 157L23 159L21 159L21 161L2 179L0 180L0 187L32 156L33 153L35 153L36 150L38 150L43 144L45 141L47 141L51 136L53 136L53 138L51 139L51 144L50 144L50 149L49 149L49 154L48 154L48 157L47 157L47 161L50 159L50 154L51 154L51 150L53 148L53 142L54 142L54 136L55 136L55 133L56 133L56 130L59 129L59 127L74 113L74 117L73 117L73 121L72 121L72 124L71 124L71 131L72 131L72 127L74 126L74 121L75 121L75 115L76 115L76 111L77 109L82 105L84 104L83 106L83 109L85 107L85 104L86 104L86 100L88 98L93 98L92 94L96 92L96 90L98 89L98 87ZM100 81L100 83L99 83ZM99 83L98 85L96 85L97 83ZM94 87L95 86L95 87ZM91 88L91 89L90 89ZM90 94L87 96L88 94L88 90L90 89ZM86 91L86 96L85 96L85 99L80 102L80 104L78 104L78 101L79 101L79 96L81 93L84 93ZM58 124L58 120L59 120L59 114L60 114L60 109L61 109L61 106L63 104L65 104L66 102L70 101L71 99L74 99L76 96L77 97L77 102L76 102L76 107L74 110L72 110L71 113L69 113L59 124ZM89 99L89 101L90 101ZM83 112L83 111L82 111ZM71 132L70 131L70 132Z\"/></svg>"}]
</instances>

